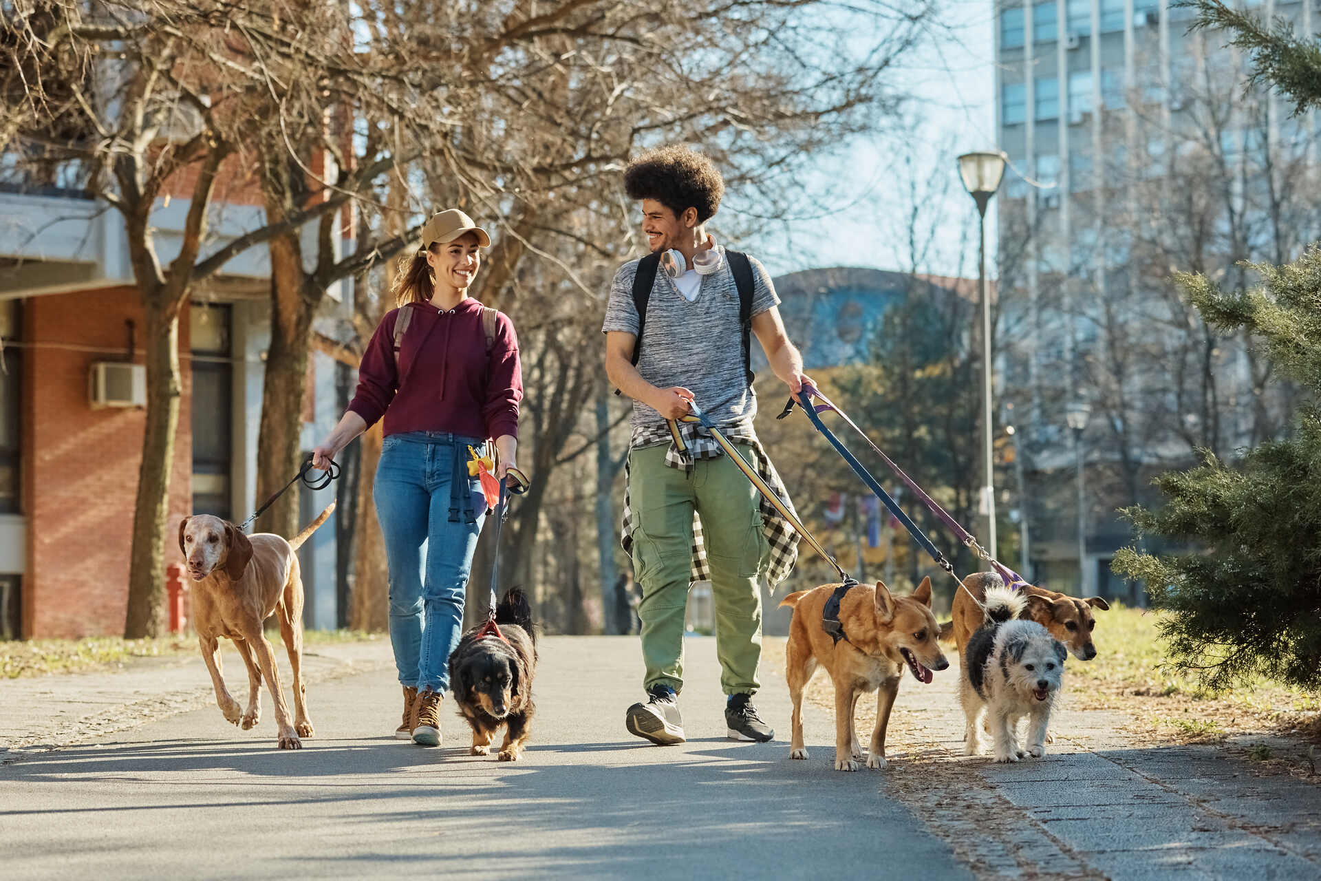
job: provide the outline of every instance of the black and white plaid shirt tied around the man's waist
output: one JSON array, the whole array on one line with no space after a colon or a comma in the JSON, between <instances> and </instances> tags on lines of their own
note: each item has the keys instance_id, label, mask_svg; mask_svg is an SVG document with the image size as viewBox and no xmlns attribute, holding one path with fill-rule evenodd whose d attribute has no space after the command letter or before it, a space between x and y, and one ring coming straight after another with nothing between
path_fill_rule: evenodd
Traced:
<instances>
[{"instance_id":1,"label":"black and white plaid shirt tied around the man's waist","mask_svg":"<svg viewBox=\"0 0 1321 881\"><path fill-rule=\"evenodd\" d=\"M701 424L678 423L678 425L679 433L683 436L684 446L687 449L679 449L679 445L675 444L674 437L670 435L670 427L667 424L635 428L633 431L630 448L641 449L643 446L659 446L660 444L668 444L670 448L666 450L664 464L688 474L692 473L694 465L697 460L717 458L725 454L725 450L720 446L716 439L712 437L711 433L701 427ZM723 425L719 431L731 444L749 444L752 452L750 465L753 470L757 472L761 479L766 481L766 485L775 493L781 503L790 511L794 511L794 503L789 498L789 491L785 489L785 483L779 479L779 474L775 473L775 466L770 464L770 457L766 456L766 450L762 449L761 441L757 440L757 433L753 431L752 423L744 421L733 425ZM624 528L620 544L622 544L625 552L631 556L635 520L633 507L629 502L627 485L629 464L625 462ZM770 589L774 590L777 584L789 577L789 573L794 568L794 563L798 560L798 532L794 531L794 527L790 526L789 520L781 516L779 511L777 511L765 497L761 498L760 507L764 524L762 530L766 535L766 543L770 547L770 561L766 568L766 580L769 581ZM707 559L707 547L701 535L701 519L697 516L696 511L692 514L692 568L690 580L711 580L711 564Z\"/></svg>"}]
</instances>

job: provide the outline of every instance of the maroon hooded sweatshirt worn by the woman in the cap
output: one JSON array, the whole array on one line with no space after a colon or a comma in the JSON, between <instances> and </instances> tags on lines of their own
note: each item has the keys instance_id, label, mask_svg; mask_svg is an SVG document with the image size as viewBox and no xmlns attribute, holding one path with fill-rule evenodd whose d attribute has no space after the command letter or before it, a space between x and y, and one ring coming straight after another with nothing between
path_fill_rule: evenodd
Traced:
<instances>
[{"instance_id":1,"label":"maroon hooded sweatshirt worn by the woman in the cap","mask_svg":"<svg viewBox=\"0 0 1321 881\"><path fill-rule=\"evenodd\" d=\"M523 374L518 337L503 312L486 353L482 304L465 299L445 312L429 302L410 302L413 317L404 330L395 365L395 318L391 309L371 335L358 367L358 391L349 409L373 425L384 416L384 433L453 432L469 437L518 437L518 402Z\"/></svg>"}]
</instances>

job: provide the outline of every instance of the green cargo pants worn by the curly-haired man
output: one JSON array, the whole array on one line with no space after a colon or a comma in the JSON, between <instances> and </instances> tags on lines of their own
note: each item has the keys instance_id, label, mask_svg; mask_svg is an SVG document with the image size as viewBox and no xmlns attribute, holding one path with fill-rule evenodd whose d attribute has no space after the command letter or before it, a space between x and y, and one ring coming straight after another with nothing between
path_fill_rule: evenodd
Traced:
<instances>
[{"instance_id":1,"label":"green cargo pants worn by the curly-haired man","mask_svg":"<svg viewBox=\"0 0 1321 881\"><path fill-rule=\"evenodd\" d=\"M737 444L749 458L746 444ZM691 474L664 464L667 446L635 449L629 505L635 520L633 572L642 589L643 687L683 689L683 619L692 561L692 512L711 561L720 687L757 691L761 660L761 577L769 559L758 494L728 456L697 460Z\"/></svg>"}]
</instances>

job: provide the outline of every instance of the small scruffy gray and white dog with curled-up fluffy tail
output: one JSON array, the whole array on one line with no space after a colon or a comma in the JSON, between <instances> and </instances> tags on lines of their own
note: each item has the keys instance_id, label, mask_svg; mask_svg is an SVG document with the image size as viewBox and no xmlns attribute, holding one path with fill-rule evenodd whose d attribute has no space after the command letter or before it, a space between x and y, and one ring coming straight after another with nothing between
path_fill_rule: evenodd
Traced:
<instances>
[{"instance_id":1,"label":"small scruffy gray and white dog with curled-up fluffy tail","mask_svg":"<svg viewBox=\"0 0 1321 881\"><path fill-rule=\"evenodd\" d=\"M1007 588L985 592L985 619L972 634L963 656L959 701L967 716L963 752L982 753L982 711L995 741L997 762L1016 762L1029 753L1046 753L1050 707L1069 650L1036 621L1018 621L1025 600ZM1028 717L1026 752L1020 749L1018 720Z\"/></svg>"}]
</instances>

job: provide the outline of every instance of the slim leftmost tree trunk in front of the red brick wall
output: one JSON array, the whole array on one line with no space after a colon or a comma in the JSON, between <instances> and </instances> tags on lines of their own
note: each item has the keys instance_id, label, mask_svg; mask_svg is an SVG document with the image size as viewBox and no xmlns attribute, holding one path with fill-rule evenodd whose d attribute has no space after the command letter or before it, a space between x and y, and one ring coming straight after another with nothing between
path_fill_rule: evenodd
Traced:
<instances>
[{"instance_id":1,"label":"slim leftmost tree trunk in front of the red brick wall","mask_svg":"<svg viewBox=\"0 0 1321 881\"><path fill-rule=\"evenodd\" d=\"M182 380L178 369L178 309L151 299L147 310L147 427L137 472L133 544L128 571L128 613L124 638L140 639L162 631L165 609L165 536L169 482L174 468L174 432Z\"/></svg>"}]
</instances>

